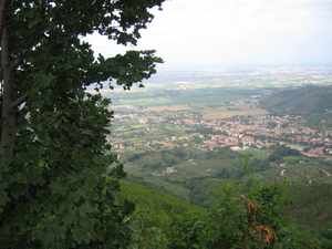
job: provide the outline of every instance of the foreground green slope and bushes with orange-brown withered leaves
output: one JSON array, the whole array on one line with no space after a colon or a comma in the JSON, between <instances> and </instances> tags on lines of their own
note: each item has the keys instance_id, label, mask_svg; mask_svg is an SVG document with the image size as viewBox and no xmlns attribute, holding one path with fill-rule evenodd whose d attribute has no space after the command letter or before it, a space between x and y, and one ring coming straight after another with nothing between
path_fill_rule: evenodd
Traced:
<instances>
[{"instance_id":1,"label":"foreground green slope and bushes with orange-brown withered leaves","mask_svg":"<svg viewBox=\"0 0 332 249\"><path fill-rule=\"evenodd\" d=\"M330 243L328 236L319 238L286 218L286 185L262 184L253 178L222 184L214 190L210 208L137 184L125 181L122 187L126 198L137 204L129 221L129 248L318 249Z\"/></svg>"}]
</instances>

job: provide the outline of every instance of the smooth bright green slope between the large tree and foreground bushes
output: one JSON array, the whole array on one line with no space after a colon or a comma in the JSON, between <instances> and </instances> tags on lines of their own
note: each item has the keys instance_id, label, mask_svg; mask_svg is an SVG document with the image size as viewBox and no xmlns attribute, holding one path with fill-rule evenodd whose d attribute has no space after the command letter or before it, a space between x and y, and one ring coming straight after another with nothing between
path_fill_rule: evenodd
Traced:
<instances>
[{"instance_id":1,"label":"smooth bright green slope between the large tree and foreground bushes","mask_svg":"<svg viewBox=\"0 0 332 249\"><path fill-rule=\"evenodd\" d=\"M135 204L131 216L132 248L166 248L174 220L205 212L177 197L129 181L122 183L122 195Z\"/></svg>"}]
</instances>

